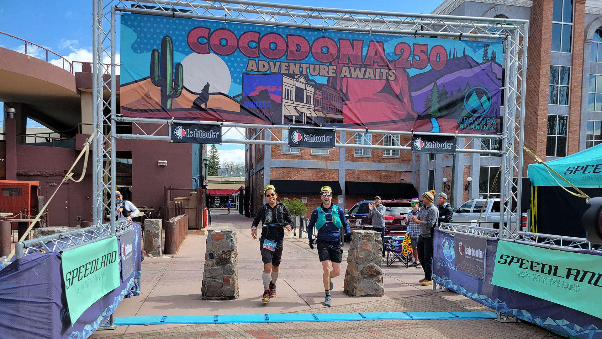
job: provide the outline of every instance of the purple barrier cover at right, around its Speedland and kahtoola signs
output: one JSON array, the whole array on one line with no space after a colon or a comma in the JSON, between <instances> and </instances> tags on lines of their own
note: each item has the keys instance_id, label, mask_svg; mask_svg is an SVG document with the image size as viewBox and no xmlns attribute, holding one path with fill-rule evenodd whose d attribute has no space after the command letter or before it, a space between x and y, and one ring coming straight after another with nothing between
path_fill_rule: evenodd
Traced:
<instances>
[{"instance_id":1,"label":"purple barrier cover at right, around its Speedland and kahtoola signs","mask_svg":"<svg viewBox=\"0 0 602 339\"><path fill-rule=\"evenodd\" d=\"M456 270L456 239L435 229L433 282L482 303L498 312L577 338L602 338L602 319L529 294L491 284L498 241L488 240L485 279ZM584 251L590 255L595 252ZM562 293L560 291L559 293Z\"/></svg>"}]
</instances>

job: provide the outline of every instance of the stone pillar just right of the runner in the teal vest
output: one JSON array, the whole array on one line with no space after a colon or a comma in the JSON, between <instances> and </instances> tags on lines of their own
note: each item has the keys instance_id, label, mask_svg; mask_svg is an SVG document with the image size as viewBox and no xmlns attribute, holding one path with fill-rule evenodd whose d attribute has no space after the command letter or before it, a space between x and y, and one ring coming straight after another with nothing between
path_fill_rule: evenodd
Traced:
<instances>
[{"instance_id":1,"label":"stone pillar just right of the runner in the teal vest","mask_svg":"<svg viewBox=\"0 0 602 339\"><path fill-rule=\"evenodd\" d=\"M373 230L354 230L343 291L352 297L382 297L382 240Z\"/></svg>"}]
</instances>

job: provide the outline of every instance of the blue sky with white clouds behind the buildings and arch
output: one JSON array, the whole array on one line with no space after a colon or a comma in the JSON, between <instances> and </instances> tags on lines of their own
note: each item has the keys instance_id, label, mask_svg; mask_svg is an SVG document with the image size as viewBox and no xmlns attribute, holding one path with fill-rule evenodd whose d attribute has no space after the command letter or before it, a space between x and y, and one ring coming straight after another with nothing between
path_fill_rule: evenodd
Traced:
<instances>
[{"instance_id":1,"label":"blue sky with white clouds behind the buildings and arch","mask_svg":"<svg viewBox=\"0 0 602 339\"><path fill-rule=\"evenodd\" d=\"M399 1L390 0L281 0L265 2L287 3L330 8L353 8L358 10L398 11L403 13L430 13L442 0ZM109 1L105 0L105 5ZM118 19L119 20L119 19ZM108 30L108 28L107 28ZM62 55L67 60L92 61L92 1L28 0L26 5L20 1L0 1L0 31L37 43ZM119 25L117 25L119 40ZM0 35L0 46L25 52L25 46L16 39ZM117 42L117 62L119 62L119 42ZM45 51L28 46L27 52L34 57L45 59ZM62 66L58 57L50 58L57 66ZM105 60L109 62L109 60ZM76 71L79 71L76 68ZM119 74L119 69L117 70ZM0 103L0 106L3 106ZM3 107L0 107L3 109ZM226 132L226 129L224 130ZM244 133L244 130L243 130ZM243 139L234 129L223 136L224 139ZM243 144L217 145L220 159L231 159L244 163Z\"/></svg>"}]
</instances>

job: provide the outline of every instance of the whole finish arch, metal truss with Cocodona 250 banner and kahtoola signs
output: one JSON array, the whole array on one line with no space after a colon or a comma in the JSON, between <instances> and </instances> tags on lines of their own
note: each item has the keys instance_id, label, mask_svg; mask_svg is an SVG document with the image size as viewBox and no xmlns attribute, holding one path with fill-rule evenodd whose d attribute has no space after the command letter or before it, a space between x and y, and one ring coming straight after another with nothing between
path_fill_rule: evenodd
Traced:
<instances>
[{"instance_id":1,"label":"whole finish arch, metal truss with Cocodona 250 banner and kahtoola signs","mask_svg":"<svg viewBox=\"0 0 602 339\"><path fill-rule=\"evenodd\" d=\"M503 154L500 214L512 224L503 223L500 236L514 236L528 21L246 0L94 0L93 20L95 223L105 209L115 211L106 197L116 188L117 139L285 145L293 138L270 131L297 128L297 141L314 142L306 147ZM159 126L117 135L119 121ZM224 127L253 132L242 141L223 139ZM341 140L337 131L348 134ZM413 142L355 145L356 133L409 135ZM501 151L470 146L483 138L500 139Z\"/></svg>"}]
</instances>

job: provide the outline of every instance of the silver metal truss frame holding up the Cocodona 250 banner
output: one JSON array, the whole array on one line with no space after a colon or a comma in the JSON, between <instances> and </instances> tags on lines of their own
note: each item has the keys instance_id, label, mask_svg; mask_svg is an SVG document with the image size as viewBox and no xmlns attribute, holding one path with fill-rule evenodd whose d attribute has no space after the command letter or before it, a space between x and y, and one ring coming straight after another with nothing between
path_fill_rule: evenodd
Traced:
<instances>
[{"instance_id":1,"label":"silver metal truss frame holding up the Cocodona 250 banner","mask_svg":"<svg viewBox=\"0 0 602 339\"><path fill-rule=\"evenodd\" d=\"M503 132L500 135L446 135L443 133L429 133L430 135L458 136L461 138L494 138L501 139L502 150L476 150L473 148L459 148L463 153L489 153L504 154L501 171L500 214L506 215L504 220L514 220L511 215L520 215L521 206L521 180L514 181L523 173L523 124L524 124L524 95L526 83L527 36L529 23L519 19L483 18L449 16L437 14L409 14L386 11L344 10L338 8L316 8L302 5L270 4L247 0L234 1L209 1L209 0L154 0L154 1L123 1L114 0L104 2L93 1L94 39L93 39L93 107L94 125L97 130L97 141L94 149L95 176L94 176L94 221L102 224L104 211L114 214L112 194L115 190L115 141L116 138L169 140L169 135L156 135L154 133L143 135L115 134L116 121L127 121L132 124L138 122L152 122L168 124L167 120L155 121L154 119L123 118L117 116L115 106L115 68L116 68L116 39L115 26L116 11L120 13L151 14L169 17L186 17L190 19L209 19L224 22L238 22L243 24L273 25L291 28L308 28L315 30L348 31L374 34L396 34L400 36L441 37L447 39L479 39L498 40L504 43L504 68L506 79L504 83L504 102L506 113L504 116ZM110 78L103 75L102 62L110 57ZM173 122L173 121L172 121ZM190 121L187 121L190 123ZM209 122L229 128L252 128L253 133L244 133L244 140L223 139L225 143L236 144L272 144L284 145L285 142L276 138L272 133L270 139L257 138L263 130L288 128L285 125L256 125L256 124L229 124ZM103 125L110 125L108 134L103 134ZM326 128L326 127L323 127ZM169 129L169 128L168 128ZM352 133L383 133L389 135L411 135L410 131L371 131L364 129L337 128L337 131ZM241 133L242 134L242 133ZM418 133L416 133L418 134ZM388 150L410 150L408 145L384 145L381 139L370 145L355 145L355 138L337 140L336 147L347 148L379 148ZM470 143L469 143L470 144ZM464 147L464 145L461 145ZM111 199L107 199L111 197ZM515 201L516 203L510 203ZM517 210L517 208L519 210ZM114 220L114 218L111 218ZM520 218L517 218L520 220ZM112 222L113 223L113 222ZM114 229L114 228L113 228ZM516 225L504 223L503 236L511 236Z\"/></svg>"}]
</instances>

